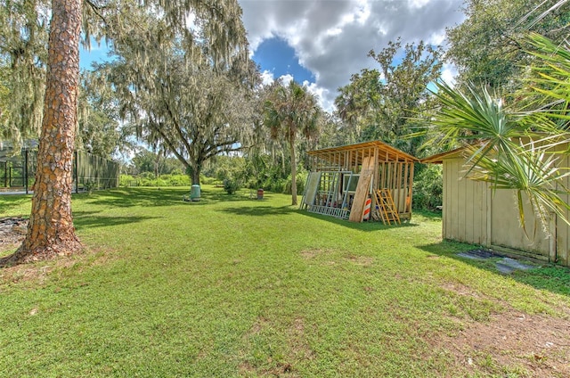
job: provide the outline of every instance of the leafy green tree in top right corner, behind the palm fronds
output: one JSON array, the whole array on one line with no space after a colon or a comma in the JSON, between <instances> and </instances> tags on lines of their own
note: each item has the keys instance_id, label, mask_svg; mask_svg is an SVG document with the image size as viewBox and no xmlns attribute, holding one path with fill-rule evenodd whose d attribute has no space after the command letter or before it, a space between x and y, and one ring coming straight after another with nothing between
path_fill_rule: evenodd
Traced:
<instances>
[{"instance_id":1,"label":"leafy green tree in top right corner, behind the palm fronds","mask_svg":"<svg viewBox=\"0 0 570 378\"><path fill-rule=\"evenodd\" d=\"M467 0L464 12L467 19L447 29L450 48L447 58L460 71L460 82L476 86L490 86L493 91L509 93L517 89L518 78L525 75L525 67L532 61L527 53L530 45L524 36L527 29L542 34L555 42L562 42L568 34L570 12L559 0ZM534 10L542 18L526 17Z\"/></svg>"}]
</instances>

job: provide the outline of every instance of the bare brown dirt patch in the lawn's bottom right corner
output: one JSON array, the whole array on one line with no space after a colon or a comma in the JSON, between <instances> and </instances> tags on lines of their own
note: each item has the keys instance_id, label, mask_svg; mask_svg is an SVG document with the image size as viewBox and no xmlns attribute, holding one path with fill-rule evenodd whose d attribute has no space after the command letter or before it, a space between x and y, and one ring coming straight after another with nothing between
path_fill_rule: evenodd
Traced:
<instances>
[{"instance_id":1,"label":"bare brown dirt patch in the lawn's bottom right corner","mask_svg":"<svg viewBox=\"0 0 570 378\"><path fill-rule=\"evenodd\" d=\"M570 376L570 321L515 310L469 322L456 336L430 341L457 370L528 377ZM450 369L454 370L454 369Z\"/></svg>"}]
</instances>

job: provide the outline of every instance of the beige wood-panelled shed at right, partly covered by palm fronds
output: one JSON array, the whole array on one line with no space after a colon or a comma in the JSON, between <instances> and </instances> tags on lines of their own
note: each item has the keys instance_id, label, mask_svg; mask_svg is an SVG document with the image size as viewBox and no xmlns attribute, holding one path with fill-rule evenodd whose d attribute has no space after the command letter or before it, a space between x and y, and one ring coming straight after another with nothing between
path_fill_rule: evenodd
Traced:
<instances>
[{"instance_id":1,"label":"beige wood-panelled shed at right, partly covered by palm fronds","mask_svg":"<svg viewBox=\"0 0 570 378\"><path fill-rule=\"evenodd\" d=\"M561 148L568 148L569 145ZM443 165L444 239L468 242L507 253L556 262L570 267L570 227L556 214L548 225L534 216L525 204L525 230L518 219L517 193L492 189L491 185L465 177L468 156L464 149L440 153L421 160ZM570 167L568 156L558 160L560 167ZM570 187L570 177L564 185ZM568 195L563 198L566 202ZM566 212L566 218L568 214Z\"/></svg>"}]
</instances>

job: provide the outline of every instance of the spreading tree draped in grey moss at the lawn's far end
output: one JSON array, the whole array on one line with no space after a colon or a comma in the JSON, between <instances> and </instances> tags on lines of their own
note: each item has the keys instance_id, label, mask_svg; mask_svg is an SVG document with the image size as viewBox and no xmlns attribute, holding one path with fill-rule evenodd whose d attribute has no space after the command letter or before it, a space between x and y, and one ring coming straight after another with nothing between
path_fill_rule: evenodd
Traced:
<instances>
[{"instance_id":1,"label":"spreading tree draped in grey moss at the lawn's far end","mask_svg":"<svg viewBox=\"0 0 570 378\"><path fill-rule=\"evenodd\" d=\"M179 33L164 37L161 21L143 15L141 22L145 29L115 44L113 62L99 67L109 79L104 85L114 88L120 116L137 136L163 145L199 184L206 160L248 143L255 66L242 59L247 45L220 61L208 41L188 51Z\"/></svg>"}]
</instances>

